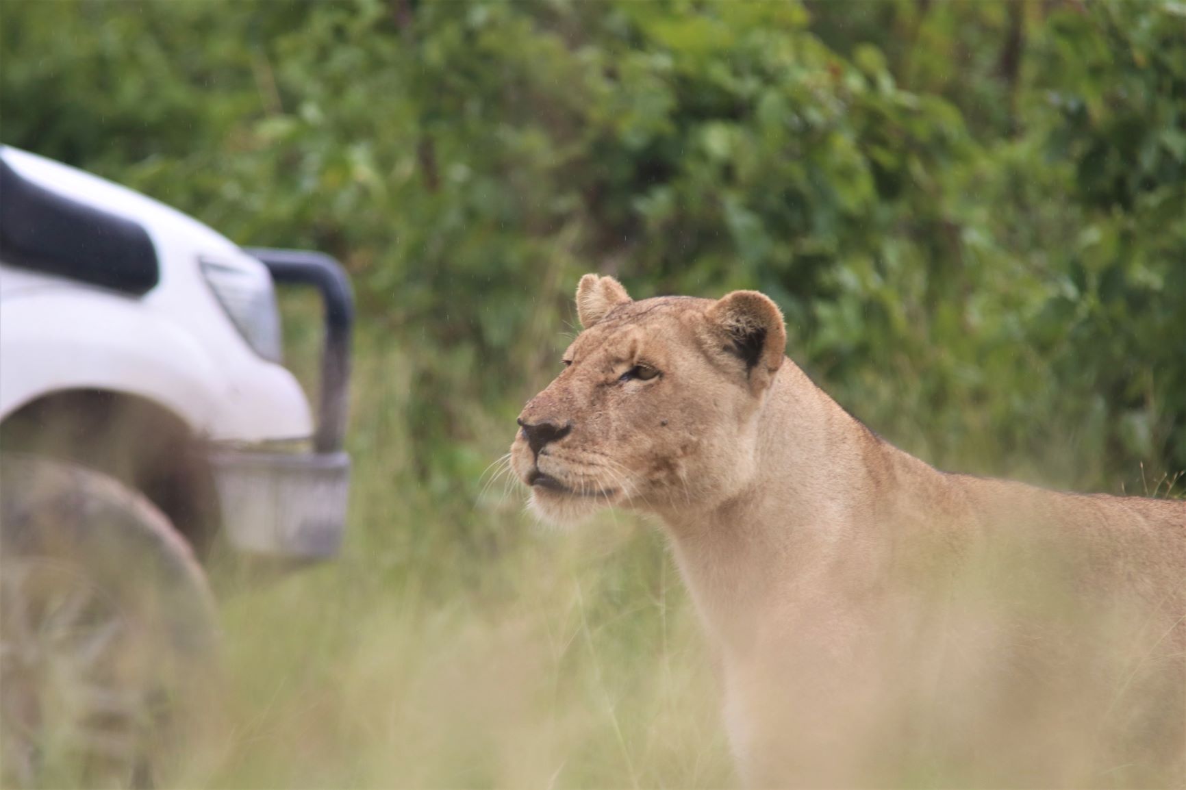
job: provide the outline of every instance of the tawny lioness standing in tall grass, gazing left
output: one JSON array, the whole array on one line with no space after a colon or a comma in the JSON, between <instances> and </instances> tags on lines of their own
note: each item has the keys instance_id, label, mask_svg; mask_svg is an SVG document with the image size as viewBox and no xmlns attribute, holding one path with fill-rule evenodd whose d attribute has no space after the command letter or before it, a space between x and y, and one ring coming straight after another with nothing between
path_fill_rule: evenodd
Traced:
<instances>
[{"instance_id":1,"label":"tawny lioness standing in tall grass, gazing left","mask_svg":"<svg viewBox=\"0 0 1186 790\"><path fill-rule=\"evenodd\" d=\"M751 785L1184 781L1186 502L939 472L784 356L765 295L576 289L518 418L543 518L657 515Z\"/></svg>"}]
</instances>

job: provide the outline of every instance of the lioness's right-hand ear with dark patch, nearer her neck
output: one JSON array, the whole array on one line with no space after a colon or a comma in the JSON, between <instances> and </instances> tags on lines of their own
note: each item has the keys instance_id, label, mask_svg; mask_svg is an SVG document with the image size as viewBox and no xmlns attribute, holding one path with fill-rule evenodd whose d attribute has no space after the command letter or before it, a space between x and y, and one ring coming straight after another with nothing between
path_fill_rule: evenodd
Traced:
<instances>
[{"instance_id":1,"label":"lioness's right-hand ear with dark patch, nearer her neck","mask_svg":"<svg viewBox=\"0 0 1186 790\"><path fill-rule=\"evenodd\" d=\"M774 380L786 350L783 312L757 291L734 291L708 308L709 325L723 339L722 350L746 365L751 384L761 391Z\"/></svg>"}]
</instances>

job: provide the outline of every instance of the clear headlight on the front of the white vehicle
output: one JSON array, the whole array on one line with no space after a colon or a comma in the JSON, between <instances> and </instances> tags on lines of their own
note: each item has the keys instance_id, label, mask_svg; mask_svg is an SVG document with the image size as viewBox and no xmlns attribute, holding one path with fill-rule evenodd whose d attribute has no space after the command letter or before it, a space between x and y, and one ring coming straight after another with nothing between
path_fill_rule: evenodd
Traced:
<instances>
[{"instance_id":1,"label":"clear headlight on the front of the white vehicle","mask_svg":"<svg viewBox=\"0 0 1186 790\"><path fill-rule=\"evenodd\" d=\"M211 260L200 263L210 289L247 344L264 359L280 362L280 311L272 275Z\"/></svg>"}]
</instances>

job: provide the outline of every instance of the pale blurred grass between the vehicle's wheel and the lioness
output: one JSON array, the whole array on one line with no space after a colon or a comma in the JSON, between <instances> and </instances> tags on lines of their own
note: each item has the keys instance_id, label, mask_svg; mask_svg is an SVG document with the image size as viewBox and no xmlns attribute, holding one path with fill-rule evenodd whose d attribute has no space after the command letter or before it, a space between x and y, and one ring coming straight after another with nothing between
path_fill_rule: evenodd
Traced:
<instances>
[{"instance_id":1,"label":"pale blurred grass between the vehicle's wheel and the lioness","mask_svg":"<svg viewBox=\"0 0 1186 790\"><path fill-rule=\"evenodd\" d=\"M283 304L286 363L315 391L315 299ZM624 514L538 527L493 467L444 495L416 485L408 375L364 327L343 555L224 601L230 731L210 783L732 783L712 665L659 534ZM514 419L473 419L485 466Z\"/></svg>"}]
</instances>

